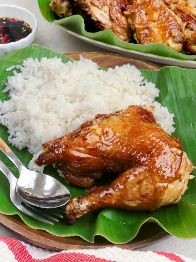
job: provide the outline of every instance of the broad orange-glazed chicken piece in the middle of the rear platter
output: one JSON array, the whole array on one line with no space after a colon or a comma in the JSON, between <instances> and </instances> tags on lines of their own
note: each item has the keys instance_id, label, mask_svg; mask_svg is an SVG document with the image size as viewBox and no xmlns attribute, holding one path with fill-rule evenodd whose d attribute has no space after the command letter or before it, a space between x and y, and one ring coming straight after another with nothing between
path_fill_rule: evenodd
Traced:
<instances>
[{"instance_id":1,"label":"broad orange-glazed chicken piece in the middle of the rear platter","mask_svg":"<svg viewBox=\"0 0 196 262\"><path fill-rule=\"evenodd\" d=\"M164 43L180 52L183 34L175 15L160 0L144 0L126 7L128 22L139 44Z\"/></svg>"}]
</instances>

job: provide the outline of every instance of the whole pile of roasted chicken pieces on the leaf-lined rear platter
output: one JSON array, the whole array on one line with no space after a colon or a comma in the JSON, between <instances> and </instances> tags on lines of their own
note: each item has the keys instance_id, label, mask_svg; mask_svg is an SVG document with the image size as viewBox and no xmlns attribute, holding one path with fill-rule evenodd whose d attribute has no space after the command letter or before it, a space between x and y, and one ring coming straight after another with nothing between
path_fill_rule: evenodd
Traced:
<instances>
[{"instance_id":1,"label":"whole pile of roasted chicken pieces on the leaf-lined rear platter","mask_svg":"<svg viewBox=\"0 0 196 262\"><path fill-rule=\"evenodd\" d=\"M196 54L196 0L52 0L50 6L61 18L90 17L100 30L109 29L125 42L134 36L142 45L164 43Z\"/></svg>"}]
</instances>

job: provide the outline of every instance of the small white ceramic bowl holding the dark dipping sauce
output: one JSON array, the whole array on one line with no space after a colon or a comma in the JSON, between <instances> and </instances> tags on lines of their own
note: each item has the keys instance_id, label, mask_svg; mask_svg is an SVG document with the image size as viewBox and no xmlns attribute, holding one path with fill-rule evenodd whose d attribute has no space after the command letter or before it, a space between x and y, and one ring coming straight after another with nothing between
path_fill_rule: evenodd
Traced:
<instances>
[{"instance_id":1,"label":"small white ceramic bowl holding the dark dipping sauce","mask_svg":"<svg viewBox=\"0 0 196 262\"><path fill-rule=\"evenodd\" d=\"M0 56L3 56L4 54L7 54L16 49L31 45L37 30L37 19L33 13L20 6L0 4L0 17L10 17L23 20L29 24L32 29L32 32L27 37L22 38L19 41L0 44Z\"/></svg>"}]
</instances>

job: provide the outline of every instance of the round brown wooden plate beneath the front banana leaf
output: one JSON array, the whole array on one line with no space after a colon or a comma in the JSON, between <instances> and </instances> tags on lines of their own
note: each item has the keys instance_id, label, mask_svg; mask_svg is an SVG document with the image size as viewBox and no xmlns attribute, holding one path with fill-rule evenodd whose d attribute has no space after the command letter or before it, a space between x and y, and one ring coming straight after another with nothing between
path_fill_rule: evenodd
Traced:
<instances>
[{"instance_id":1,"label":"round brown wooden plate beneath the front banana leaf","mask_svg":"<svg viewBox=\"0 0 196 262\"><path fill-rule=\"evenodd\" d=\"M119 54L107 54L107 53L68 53L65 54L73 59L79 59L79 55L82 54L84 58L92 59L100 67L114 68L115 65L123 65L130 63L137 68L147 70L158 70L160 67L152 63L142 61L139 59L123 56ZM137 236L126 244L112 244L101 236L95 237L95 243L89 243L80 237L57 237L47 233L44 230L37 230L27 226L18 215L3 215L0 214L0 223L18 234L25 241L37 245L42 248L50 250L63 250L63 249L98 249L103 247L121 247L124 249L134 249L144 245L151 244L154 241L161 240L169 236L168 233L163 231L156 223L145 223L141 228ZM119 232L120 234L120 232Z\"/></svg>"}]
</instances>

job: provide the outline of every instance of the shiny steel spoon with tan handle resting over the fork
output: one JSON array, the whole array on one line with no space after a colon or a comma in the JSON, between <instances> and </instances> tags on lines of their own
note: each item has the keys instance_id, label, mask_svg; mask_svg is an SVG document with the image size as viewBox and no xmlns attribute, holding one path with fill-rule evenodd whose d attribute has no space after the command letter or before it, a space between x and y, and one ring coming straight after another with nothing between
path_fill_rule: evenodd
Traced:
<instances>
[{"instance_id":1,"label":"shiny steel spoon with tan handle resting over the fork","mask_svg":"<svg viewBox=\"0 0 196 262\"><path fill-rule=\"evenodd\" d=\"M16 192L23 201L40 208L57 208L70 200L71 194L63 184L46 174L28 170L1 138L0 150L19 170Z\"/></svg>"}]
</instances>

